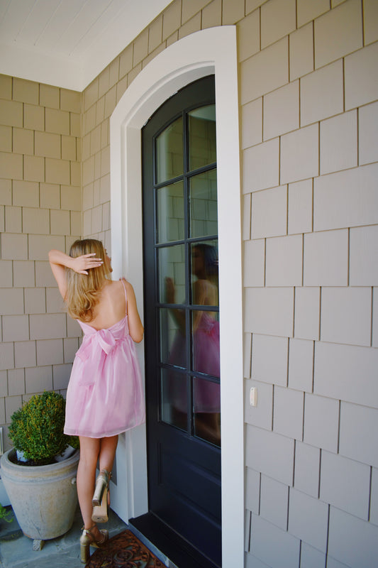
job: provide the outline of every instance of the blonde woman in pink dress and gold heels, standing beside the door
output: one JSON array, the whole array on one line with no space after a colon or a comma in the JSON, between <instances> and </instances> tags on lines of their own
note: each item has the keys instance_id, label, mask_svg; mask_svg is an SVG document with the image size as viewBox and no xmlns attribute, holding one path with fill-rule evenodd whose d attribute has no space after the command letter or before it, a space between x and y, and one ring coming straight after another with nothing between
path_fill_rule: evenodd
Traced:
<instances>
[{"instance_id":1,"label":"blonde woman in pink dress and gold heels, standing beside the door","mask_svg":"<svg viewBox=\"0 0 378 568\"><path fill-rule=\"evenodd\" d=\"M133 343L142 341L143 325L132 285L109 278L111 259L101 241L75 241L70 255L52 250L49 261L68 312L84 332L67 388L65 434L80 440L77 494L84 520L81 559L86 563L89 545L99 547L109 537L96 521L107 520L118 434L145 420Z\"/></svg>"}]
</instances>

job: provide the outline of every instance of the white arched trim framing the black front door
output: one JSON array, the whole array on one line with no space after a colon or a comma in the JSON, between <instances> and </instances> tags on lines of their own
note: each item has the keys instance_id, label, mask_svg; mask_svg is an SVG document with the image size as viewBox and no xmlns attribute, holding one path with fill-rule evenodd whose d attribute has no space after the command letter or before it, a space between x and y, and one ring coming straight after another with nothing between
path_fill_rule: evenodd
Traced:
<instances>
[{"instance_id":1,"label":"white arched trim framing the black front door","mask_svg":"<svg viewBox=\"0 0 378 568\"><path fill-rule=\"evenodd\" d=\"M169 46L135 78L111 116L111 242L115 275L126 274L143 307L140 130L186 84L215 73L218 173L223 568L244 564L243 312L240 231L238 65L234 26L209 28ZM143 351L139 351L143 359ZM142 361L143 363L143 361ZM121 516L147 511L145 431L120 444L128 502ZM119 471L119 468L117 468ZM119 490L118 481L118 492ZM114 501L113 501L114 502ZM118 512L118 511L117 511ZM118 513L120 514L120 513Z\"/></svg>"}]
</instances>

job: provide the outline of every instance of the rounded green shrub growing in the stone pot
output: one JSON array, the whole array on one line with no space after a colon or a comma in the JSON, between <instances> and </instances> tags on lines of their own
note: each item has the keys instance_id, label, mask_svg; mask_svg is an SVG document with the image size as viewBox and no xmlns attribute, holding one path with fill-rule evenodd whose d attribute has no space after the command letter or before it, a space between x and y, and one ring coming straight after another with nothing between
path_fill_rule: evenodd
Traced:
<instances>
[{"instance_id":1,"label":"rounded green shrub growing in the stone pot","mask_svg":"<svg viewBox=\"0 0 378 568\"><path fill-rule=\"evenodd\" d=\"M11 416L9 437L16 449L35 465L54 463L71 437L63 433L65 399L53 391L33 395Z\"/></svg>"}]
</instances>

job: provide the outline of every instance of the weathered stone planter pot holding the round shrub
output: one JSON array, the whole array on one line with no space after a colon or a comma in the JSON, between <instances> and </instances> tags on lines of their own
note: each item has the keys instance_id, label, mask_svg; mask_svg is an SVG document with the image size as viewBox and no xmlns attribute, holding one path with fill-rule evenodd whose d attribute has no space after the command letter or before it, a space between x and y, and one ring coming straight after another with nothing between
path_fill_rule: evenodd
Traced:
<instances>
[{"instance_id":1,"label":"weathered stone planter pot holding the round shrub","mask_svg":"<svg viewBox=\"0 0 378 568\"><path fill-rule=\"evenodd\" d=\"M79 450L56 464L13 464L10 449L1 456L1 479L23 534L48 540L70 530L77 507L76 472Z\"/></svg>"}]
</instances>

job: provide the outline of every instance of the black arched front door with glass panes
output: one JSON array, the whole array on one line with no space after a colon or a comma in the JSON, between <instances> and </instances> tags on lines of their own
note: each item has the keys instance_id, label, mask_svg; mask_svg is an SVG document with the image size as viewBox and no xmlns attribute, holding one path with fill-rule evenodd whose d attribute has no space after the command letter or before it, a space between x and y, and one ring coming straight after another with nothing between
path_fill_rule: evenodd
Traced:
<instances>
[{"instance_id":1,"label":"black arched front door with glass panes","mask_svg":"<svg viewBox=\"0 0 378 568\"><path fill-rule=\"evenodd\" d=\"M221 566L213 76L143 129L143 219L150 515Z\"/></svg>"}]
</instances>

